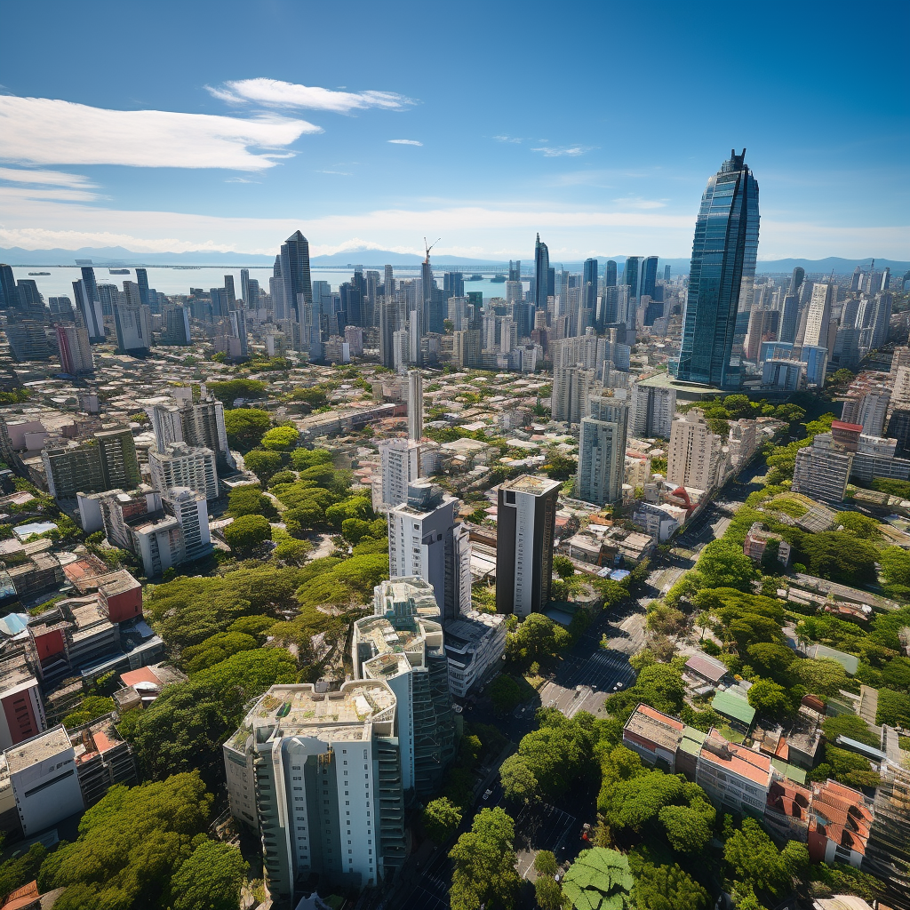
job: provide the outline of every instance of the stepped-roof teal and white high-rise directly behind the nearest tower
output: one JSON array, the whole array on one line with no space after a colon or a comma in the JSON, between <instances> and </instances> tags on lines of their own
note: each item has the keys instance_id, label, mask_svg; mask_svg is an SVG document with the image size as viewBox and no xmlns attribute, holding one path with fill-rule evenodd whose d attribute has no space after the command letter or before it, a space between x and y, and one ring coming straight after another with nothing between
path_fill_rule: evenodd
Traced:
<instances>
[{"instance_id":1,"label":"stepped-roof teal and white high-rise directly behind the nearest tower","mask_svg":"<svg viewBox=\"0 0 910 910\"><path fill-rule=\"evenodd\" d=\"M401 786L418 799L438 791L455 756L455 720L440 610L420 578L380 581L373 615L354 622L354 678L381 680L396 699Z\"/></svg>"}]
</instances>

